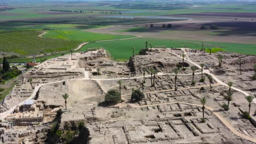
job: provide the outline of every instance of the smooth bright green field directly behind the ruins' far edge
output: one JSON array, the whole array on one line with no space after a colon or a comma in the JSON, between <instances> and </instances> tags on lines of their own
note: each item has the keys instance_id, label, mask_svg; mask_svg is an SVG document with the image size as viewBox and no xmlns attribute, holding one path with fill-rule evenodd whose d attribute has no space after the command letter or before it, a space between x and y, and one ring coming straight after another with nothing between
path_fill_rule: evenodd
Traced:
<instances>
[{"instance_id":1,"label":"smooth bright green field directly behind the ruins' far edge","mask_svg":"<svg viewBox=\"0 0 256 144\"><path fill-rule=\"evenodd\" d=\"M127 61L132 55L132 47L135 46L135 52L138 53L142 47L145 47L145 41L149 44L167 47L189 47L191 49L201 49L201 41L193 40L167 40L167 39L146 39L135 38L117 41L101 41L91 43L82 47L82 50L95 47L104 47L112 57L118 61ZM256 55L256 45L253 44L232 44L232 43L214 43L205 42L206 48L220 47L228 52L247 53ZM150 47L150 46L149 46Z\"/></svg>"}]
</instances>

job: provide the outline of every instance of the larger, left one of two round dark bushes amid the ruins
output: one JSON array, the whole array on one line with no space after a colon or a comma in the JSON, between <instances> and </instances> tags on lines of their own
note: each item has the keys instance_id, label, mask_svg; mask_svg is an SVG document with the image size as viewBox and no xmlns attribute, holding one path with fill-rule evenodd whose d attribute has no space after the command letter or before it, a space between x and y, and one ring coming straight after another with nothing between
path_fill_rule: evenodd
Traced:
<instances>
[{"instance_id":1,"label":"larger, left one of two round dark bushes amid the ruins","mask_svg":"<svg viewBox=\"0 0 256 144\"><path fill-rule=\"evenodd\" d=\"M105 95L105 101L108 104L117 104L121 101L121 95L115 89L110 89Z\"/></svg>"}]
</instances>

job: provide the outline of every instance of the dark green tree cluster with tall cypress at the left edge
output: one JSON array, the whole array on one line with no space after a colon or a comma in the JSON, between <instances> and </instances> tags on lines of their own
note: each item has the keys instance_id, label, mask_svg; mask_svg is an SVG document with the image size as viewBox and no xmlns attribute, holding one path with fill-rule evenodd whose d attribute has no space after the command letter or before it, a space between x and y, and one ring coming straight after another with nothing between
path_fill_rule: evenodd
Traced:
<instances>
[{"instance_id":1,"label":"dark green tree cluster with tall cypress at the left edge","mask_svg":"<svg viewBox=\"0 0 256 144\"><path fill-rule=\"evenodd\" d=\"M2 67L1 67L2 66ZM4 83L9 79L13 79L14 77L20 75L22 71L18 70L18 68L13 67L10 68L10 64L7 60L7 57L3 57L3 63L0 64L0 82Z\"/></svg>"}]
</instances>

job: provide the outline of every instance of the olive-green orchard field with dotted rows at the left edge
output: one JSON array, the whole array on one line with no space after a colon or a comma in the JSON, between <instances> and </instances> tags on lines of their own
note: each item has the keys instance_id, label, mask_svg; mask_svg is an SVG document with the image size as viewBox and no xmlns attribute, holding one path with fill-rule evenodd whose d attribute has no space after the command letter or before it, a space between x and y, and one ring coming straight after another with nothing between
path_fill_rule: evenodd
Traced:
<instances>
[{"instance_id":1,"label":"olive-green orchard field with dotted rows at the left edge","mask_svg":"<svg viewBox=\"0 0 256 144\"><path fill-rule=\"evenodd\" d=\"M29 56L39 53L51 53L75 49L81 42L40 38L42 31L3 31L0 32L0 51Z\"/></svg>"}]
</instances>

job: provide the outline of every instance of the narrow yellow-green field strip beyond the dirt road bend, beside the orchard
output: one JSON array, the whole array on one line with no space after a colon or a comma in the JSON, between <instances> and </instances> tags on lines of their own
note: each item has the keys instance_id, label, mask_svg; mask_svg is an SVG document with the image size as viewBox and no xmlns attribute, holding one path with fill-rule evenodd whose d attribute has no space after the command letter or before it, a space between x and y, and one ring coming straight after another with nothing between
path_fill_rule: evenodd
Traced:
<instances>
[{"instance_id":1,"label":"narrow yellow-green field strip beyond the dirt road bend, beside the orchard","mask_svg":"<svg viewBox=\"0 0 256 144\"><path fill-rule=\"evenodd\" d=\"M130 35L113 35L113 34L99 34L82 31L48 31L44 37L77 40L77 41L97 41L97 40L110 40L110 39L125 39L132 38Z\"/></svg>"}]
</instances>

